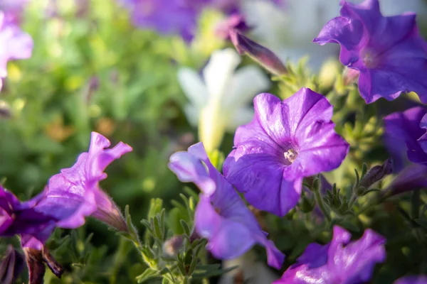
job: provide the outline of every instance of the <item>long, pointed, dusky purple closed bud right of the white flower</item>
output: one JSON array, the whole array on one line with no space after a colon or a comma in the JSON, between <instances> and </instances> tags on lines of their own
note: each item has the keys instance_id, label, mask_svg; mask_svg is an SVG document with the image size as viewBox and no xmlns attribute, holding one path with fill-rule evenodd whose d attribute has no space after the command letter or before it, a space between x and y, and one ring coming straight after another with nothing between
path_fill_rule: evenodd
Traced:
<instances>
[{"instance_id":1,"label":"long, pointed, dusky purple closed bud right of the white flower","mask_svg":"<svg viewBox=\"0 0 427 284\"><path fill-rule=\"evenodd\" d=\"M248 55L269 72L277 76L288 73L283 62L268 48L265 48L259 43L255 43L255 41L242 35L236 29L230 30L230 38L238 53L241 55Z\"/></svg>"}]
</instances>

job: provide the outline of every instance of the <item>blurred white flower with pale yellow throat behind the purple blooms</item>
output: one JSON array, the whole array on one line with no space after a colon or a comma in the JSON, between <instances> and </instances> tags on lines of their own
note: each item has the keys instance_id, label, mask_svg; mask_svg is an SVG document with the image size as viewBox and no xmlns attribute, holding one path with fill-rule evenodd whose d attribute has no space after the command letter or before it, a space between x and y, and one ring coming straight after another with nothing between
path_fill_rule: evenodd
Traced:
<instances>
[{"instance_id":1,"label":"blurred white flower with pale yellow throat behind the purple blooms","mask_svg":"<svg viewBox=\"0 0 427 284\"><path fill-rule=\"evenodd\" d=\"M225 131L235 131L237 126L251 121L253 97L270 87L268 77L255 66L235 71L241 58L235 50L217 50L211 55L203 70L203 80L190 68L178 72L189 104L184 111L190 124L199 126L199 138L206 151L221 144Z\"/></svg>"}]
</instances>

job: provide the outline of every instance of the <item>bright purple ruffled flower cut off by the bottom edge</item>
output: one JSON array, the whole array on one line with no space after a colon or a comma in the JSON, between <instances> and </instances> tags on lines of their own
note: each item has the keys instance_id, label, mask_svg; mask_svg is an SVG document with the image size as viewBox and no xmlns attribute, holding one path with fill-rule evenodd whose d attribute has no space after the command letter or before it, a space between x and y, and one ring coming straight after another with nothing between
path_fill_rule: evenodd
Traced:
<instances>
[{"instance_id":1,"label":"bright purple ruffled flower cut off by the bottom edge","mask_svg":"<svg viewBox=\"0 0 427 284\"><path fill-rule=\"evenodd\" d=\"M356 284L369 281L375 264L386 259L386 239L371 229L366 229L357 241L350 239L348 231L334 226L334 236L329 244L308 245L297 263L274 283Z\"/></svg>"}]
</instances>

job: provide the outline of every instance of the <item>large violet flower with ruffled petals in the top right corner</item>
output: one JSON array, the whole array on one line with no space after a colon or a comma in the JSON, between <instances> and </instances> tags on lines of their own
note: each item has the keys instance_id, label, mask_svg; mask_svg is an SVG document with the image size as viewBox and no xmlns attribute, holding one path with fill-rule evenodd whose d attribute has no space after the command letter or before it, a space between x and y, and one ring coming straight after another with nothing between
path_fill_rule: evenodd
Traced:
<instances>
[{"instance_id":1,"label":"large violet flower with ruffled petals in the top right corner","mask_svg":"<svg viewBox=\"0 0 427 284\"><path fill-rule=\"evenodd\" d=\"M313 41L339 43L339 60L359 70L359 92L369 104L389 101L401 92L416 92L427 102L426 43L416 27L415 14L384 17L378 0L362 4L342 1L341 16L333 18Z\"/></svg>"}]
</instances>

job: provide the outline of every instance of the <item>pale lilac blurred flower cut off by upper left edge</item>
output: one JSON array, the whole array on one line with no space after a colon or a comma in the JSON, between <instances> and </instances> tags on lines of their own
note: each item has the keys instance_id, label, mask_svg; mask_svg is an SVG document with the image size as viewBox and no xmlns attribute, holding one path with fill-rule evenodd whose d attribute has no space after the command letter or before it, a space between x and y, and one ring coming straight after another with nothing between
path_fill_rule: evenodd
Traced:
<instances>
[{"instance_id":1,"label":"pale lilac blurred flower cut off by upper left edge","mask_svg":"<svg viewBox=\"0 0 427 284\"><path fill-rule=\"evenodd\" d=\"M15 23L6 21L5 14L0 11L0 80L7 76L7 62L14 59L31 57L33 40L23 33Z\"/></svg>"}]
</instances>

